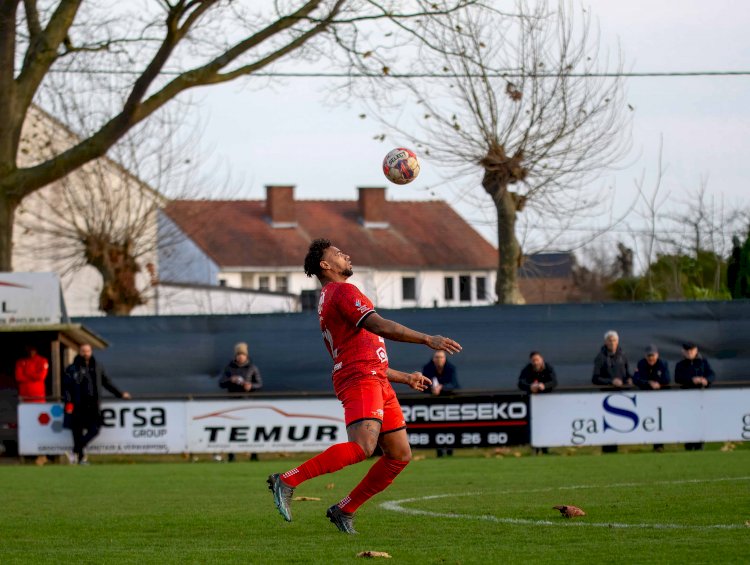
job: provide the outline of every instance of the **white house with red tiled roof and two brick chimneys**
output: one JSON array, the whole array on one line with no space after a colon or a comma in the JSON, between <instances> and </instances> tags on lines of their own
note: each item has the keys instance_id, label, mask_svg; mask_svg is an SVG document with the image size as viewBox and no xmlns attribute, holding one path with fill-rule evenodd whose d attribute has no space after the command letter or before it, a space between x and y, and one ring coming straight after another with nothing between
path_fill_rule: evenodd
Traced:
<instances>
[{"instance_id":1,"label":"white house with red tiled roof and two brick chimneys","mask_svg":"<svg viewBox=\"0 0 750 565\"><path fill-rule=\"evenodd\" d=\"M382 187L358 200L176 200L159 219L184 237L160 246L160 279L288 293L303 309L319 283L302 270L310 241L331 239L352 257L351 282L382 308L492 304L497 250L443 201L389 201Z\"/></svg>"}]
</instances>

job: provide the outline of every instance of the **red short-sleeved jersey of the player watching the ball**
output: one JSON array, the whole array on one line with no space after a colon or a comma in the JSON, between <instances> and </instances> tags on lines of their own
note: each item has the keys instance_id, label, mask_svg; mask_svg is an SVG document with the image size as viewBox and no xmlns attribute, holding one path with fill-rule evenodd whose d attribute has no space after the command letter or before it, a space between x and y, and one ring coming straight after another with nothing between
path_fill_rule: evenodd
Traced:
<instances>
[{"instance_id":1,"label":"red short-sleeved jersey of the player watching the ball","mask_svg":"<svg viewBox=\"0 0 750 565\"><path fill-rule=\"evenodd\" d=\"M353 284L328 283L320 291L320 330L333 358L336 391L359 378L388 378L385 340L360 327L373 312L370 299Z\"/></svg>"}]
</instances>

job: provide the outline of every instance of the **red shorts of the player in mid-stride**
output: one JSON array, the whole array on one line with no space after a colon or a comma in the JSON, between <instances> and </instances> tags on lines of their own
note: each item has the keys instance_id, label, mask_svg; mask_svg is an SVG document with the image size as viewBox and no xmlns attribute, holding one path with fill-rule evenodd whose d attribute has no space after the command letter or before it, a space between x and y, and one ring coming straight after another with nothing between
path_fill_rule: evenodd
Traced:
<instances>
[{"instance_id":1,"label":"red shorts of the player in mid-stride","mask_svg":"<svg viewBox=\"0 0 750 565\"><path fill-rule=\"evenodd\" d=\"M337 392L344 406L346 426L362 420L378 420L385 434L406 428L396 393L385 379L362 379Z\"/></svg>"}]
</instances>

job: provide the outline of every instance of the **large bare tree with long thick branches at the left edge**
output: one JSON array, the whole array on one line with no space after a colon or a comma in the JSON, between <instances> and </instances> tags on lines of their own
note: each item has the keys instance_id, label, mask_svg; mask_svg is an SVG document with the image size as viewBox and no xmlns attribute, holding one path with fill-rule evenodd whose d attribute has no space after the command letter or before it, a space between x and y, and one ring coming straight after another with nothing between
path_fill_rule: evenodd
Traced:
<instances>
[{"instance_id":1,"label":"large bare tree with long thick branches at the left edge","mask_svg":"<svg viewBox=\"0 0 750 565\"><path fill-rule=\"evenodd\" d=\"M26 196L104 156L180 94L287 61L337 53L356 59L392 45L394 33L418 36L411 23L426 14L450 14L470 3L0 2L0 270L11 269L14 213ZM390 34L375 33L379 24ZM62 90L45 89L54 77ZM21 131L34 101L90 111L76 141L21 166Z\"/></svg>"}]
</instances>

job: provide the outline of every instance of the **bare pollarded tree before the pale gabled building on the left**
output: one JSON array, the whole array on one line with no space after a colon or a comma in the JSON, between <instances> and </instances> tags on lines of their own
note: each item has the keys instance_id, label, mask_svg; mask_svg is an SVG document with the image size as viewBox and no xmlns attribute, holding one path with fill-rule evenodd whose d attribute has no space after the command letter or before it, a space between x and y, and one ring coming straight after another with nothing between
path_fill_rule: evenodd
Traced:
<instances>
[{"instance_id":1,"label":"bare pollarded tree before the pale gabled building on the left","mask_svg":"<svg viewBox=\"0 0 750 565\"><path fill-rule=\"evenodd\" d=\"M93 267L102 278L98 306L108 315L127 315L146 303L159 250L179 237L160 225L159 211L168 197L193 195L194 138L177 141L181 122L167 116L161 112L133 128L108 157L24 199L16 213L21 233L14 249L21 264L43 261L63 275ZM33 108L20 152L50 158L64 142L61 137L75 139L57 120Z\"/></svg>"}]
</instances>

